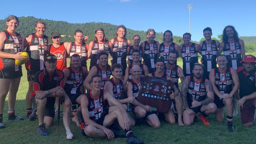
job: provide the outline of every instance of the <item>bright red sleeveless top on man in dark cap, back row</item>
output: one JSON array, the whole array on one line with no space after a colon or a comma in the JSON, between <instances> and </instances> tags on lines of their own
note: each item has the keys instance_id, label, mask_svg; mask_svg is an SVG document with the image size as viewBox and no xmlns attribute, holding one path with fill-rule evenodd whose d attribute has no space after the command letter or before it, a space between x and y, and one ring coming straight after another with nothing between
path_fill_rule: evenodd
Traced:
<instances>
[{"instance_id":1,"label":"bright red sleeveless top on man in dark cap, back row","mask_svg":"<svg viewBox=\"0 0 256 144\"><path fill-rule=\"evenodd\" d=\"M67 68L67 51L62 42L58 48L55 48L52 44L50 44L50 54L57 57L57 69L62 71Z\"/></svg>"}]
</instances>

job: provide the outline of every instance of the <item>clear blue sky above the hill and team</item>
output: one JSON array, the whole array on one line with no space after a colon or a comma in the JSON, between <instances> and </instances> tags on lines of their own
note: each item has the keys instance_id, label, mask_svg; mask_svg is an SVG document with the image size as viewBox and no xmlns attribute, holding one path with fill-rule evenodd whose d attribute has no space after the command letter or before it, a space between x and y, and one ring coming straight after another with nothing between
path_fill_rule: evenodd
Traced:
<instances>
[{"instance_id":1,"label":"clear blue sky above the hill and team","mask_svg":"<svg viewBox=\"0 0 256 144\"><path fill-rule=\"evenodd\" d=\"M124 24L133 30L171 30L173 35L182 36L189 31L186 4L194 4L191 10L194 41L203 37L204 28L211 27L213 37L217 37L226 25L235 26L240 36L256 35L255 0L4 0L0 19L16 15L70 23L107 22Z\"/></svg>"}]
</instances>

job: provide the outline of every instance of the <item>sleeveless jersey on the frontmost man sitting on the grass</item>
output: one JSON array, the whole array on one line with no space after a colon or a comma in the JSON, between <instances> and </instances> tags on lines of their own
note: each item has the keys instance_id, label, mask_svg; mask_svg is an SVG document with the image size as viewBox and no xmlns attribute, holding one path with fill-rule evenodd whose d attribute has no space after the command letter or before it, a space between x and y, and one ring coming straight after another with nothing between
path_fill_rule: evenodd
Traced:
<instances>
[{"instance_id":1,"label":"sleeveless jersey on the frontmost man sitting on the grass","mask_svg":"<svg viewBox=\"0 0 256 144\"><path fill-rule=\"evenodd\" d=\"M88 100L88 111L90 119L96 122L98 119L100 119L103 116L103 106L104 106L104 94L103 91L100 90L100 95L97 98L93 98L91 95L91 91L87 92L84 95ZM84 123L83 115L81 113L81 120Z\"/></svg>"}]
</instances>

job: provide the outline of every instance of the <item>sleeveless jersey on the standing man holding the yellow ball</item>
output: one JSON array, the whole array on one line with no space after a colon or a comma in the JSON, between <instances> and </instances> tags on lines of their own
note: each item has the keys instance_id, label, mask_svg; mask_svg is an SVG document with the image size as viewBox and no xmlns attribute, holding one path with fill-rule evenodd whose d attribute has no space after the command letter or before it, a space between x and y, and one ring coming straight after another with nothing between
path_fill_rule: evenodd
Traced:
<instances>
[{"instance_id":1,"label":"sleeveless jersey on the standing man holding the yellow ball","mask_svg":"<svg viewBox=\"0 0 256 144\"><path fill-rule=\"evenodd\" d=\"M6 39L4 41L4 46L2 52L17 54L20 52L20 47L22 44L22 37L19 33L12 35L9 31L4 31L6 33ZM15 65L15 59L13 58L2 58L0 57L0 70L10 70L18 71L21 66Z\"/></svg>"}]
</instances>

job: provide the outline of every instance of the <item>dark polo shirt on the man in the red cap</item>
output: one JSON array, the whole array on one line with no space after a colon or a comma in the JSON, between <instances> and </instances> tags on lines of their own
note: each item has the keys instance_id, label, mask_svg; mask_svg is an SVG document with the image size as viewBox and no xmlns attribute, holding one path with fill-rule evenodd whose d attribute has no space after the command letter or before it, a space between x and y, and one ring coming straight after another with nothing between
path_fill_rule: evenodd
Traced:
<instances>
[{"instance_id":1,"label":"dark polo shirt on the man in the red cap","mask_svg":"<svg viewBox=\"0 0 256 144\"><path fill-rule=\"evenodd\" d=\"M237 74L240 83L240 98L256 92L256 70L253 70L250 74L247 74L244 67L239 67L237 68Z\"/></svg>"}]
</instances>

